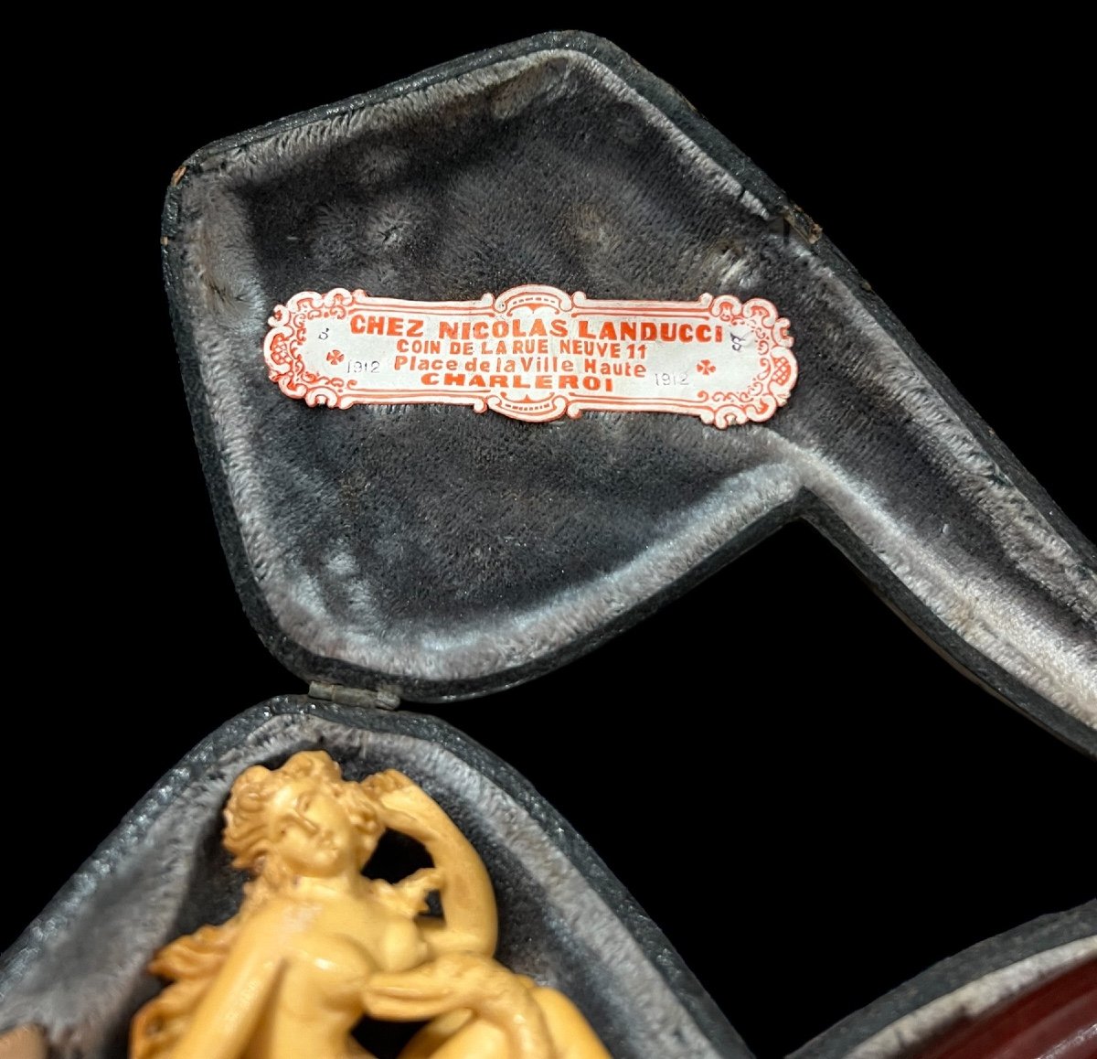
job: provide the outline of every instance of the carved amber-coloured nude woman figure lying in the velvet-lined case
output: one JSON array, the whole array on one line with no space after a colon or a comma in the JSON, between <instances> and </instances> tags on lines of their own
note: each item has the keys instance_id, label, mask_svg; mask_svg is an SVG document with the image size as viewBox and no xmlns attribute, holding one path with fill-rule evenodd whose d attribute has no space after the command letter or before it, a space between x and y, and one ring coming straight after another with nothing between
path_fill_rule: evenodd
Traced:
<instances>
[{"instance_id":1,"label":"carved amber-coloured nude woman figure lying in the velvet-lined case","mask_svg":"<svg viewBox=\"0 0 1097 1059\"><path fill-rule=\"evenodd\" d=\"M363 1015L432 1019L400 1059L609 1059L563 994L491 959L484 864L396 771L343 780L324 752L253 766L233 785L225 846L252 880L239 913L162 949L172 980L134 1019L132 1059L363 1059ZM433 867L398 883L362 868L386 827ZM437 890L442 916L422 916Z\"/></svg>"}]
</instances>

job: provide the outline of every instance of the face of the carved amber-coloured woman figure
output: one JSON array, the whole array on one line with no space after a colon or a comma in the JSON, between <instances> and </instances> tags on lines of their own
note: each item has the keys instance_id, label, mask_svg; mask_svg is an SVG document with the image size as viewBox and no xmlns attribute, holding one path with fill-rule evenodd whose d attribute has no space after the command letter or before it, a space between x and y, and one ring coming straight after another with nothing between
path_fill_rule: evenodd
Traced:
<instances>
[{"instance_id":1,"label":"face of the carved amber-coloured woman figure","mask_svg":"<svg viewBox=\"0 0 1097 1059\"><path fill-rule=\"evenodd\" d=\"M323 879L360 867L359 836L323 784L298 779L283 787L271 802L270 826L274 850L297 875Z\"/></svg>"}]
</instances>

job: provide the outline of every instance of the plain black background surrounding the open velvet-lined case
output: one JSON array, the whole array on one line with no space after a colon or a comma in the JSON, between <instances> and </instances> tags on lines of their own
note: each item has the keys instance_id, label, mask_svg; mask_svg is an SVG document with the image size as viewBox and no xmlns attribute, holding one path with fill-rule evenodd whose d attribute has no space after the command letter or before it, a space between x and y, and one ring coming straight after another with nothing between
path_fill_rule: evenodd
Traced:
<instances>
[{"instance_id":1,"label":"plain black background surrounding the open velvet-lined case","mask_svg":"<svg viewBox=\"0 0 1097 1059\"><path fill-rule=\"evenodd\" d=\"M33 205L10 206L11 250L31 273L15 289L44 307L9 322L26 426L9 464L0 784L19 881L0 946L195 742L303 690L248 627L219 551L159 210L210 140L552 27L411 15L403 35L357 10L181 22L83 49L58 67L57 101L27 108ZM1092 536L1070 32L745 13L581 27L784 187ZM1093 895L1094 764L953 671L806 526L561 673L430 711L575 824L762 1057Z\"/></svg>"}]
</instances>

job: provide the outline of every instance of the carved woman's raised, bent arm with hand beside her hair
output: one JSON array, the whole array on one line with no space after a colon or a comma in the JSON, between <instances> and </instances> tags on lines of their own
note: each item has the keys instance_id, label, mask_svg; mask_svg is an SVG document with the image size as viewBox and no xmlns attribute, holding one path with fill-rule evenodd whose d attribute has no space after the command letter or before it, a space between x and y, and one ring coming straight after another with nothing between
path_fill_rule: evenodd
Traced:
<instances>
[{"instance_id":1,"label":"carved woman's raised, bent arm with hand beside her hair","mask_svg":"<svg viewBox=\"0 0 1097 1059\"><path fill-rule=\"evenodd\" d=\"M443 919L420 921L431 956L495 953L498 913L487 868L472 843L421 787L395 769L369 777L381 822L421 842L442 872Z\"/></svg>"}]
</instances>

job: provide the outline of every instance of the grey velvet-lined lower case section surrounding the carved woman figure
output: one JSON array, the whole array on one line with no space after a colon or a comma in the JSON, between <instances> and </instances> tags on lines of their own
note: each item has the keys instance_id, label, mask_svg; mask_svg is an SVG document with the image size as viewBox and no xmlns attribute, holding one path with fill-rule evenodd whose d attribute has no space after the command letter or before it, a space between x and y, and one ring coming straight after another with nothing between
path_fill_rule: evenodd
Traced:
<instances>
[{"instance_id":1,"label":"grey velvet-lined lower case section surrounding the carved woman figure","mask_svg":"<svg viewBox=\"0 0 1097 1059\"><path fill-rule=\"evenodd\" d=\"M121 1056L157 989L152 953L239 900L220 810L247 765L323 747L360 778L398 768L474 843L499 903L499 958L558 985L615 1059L747 1057L666 939L574 831L510 768L453 729L406 713L272 700L214 733L123 822L7 954L0 1030L35 1023L59 1059Z\"/></svg>"}]
</instances>

